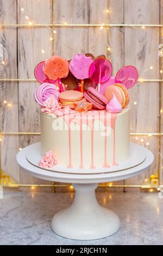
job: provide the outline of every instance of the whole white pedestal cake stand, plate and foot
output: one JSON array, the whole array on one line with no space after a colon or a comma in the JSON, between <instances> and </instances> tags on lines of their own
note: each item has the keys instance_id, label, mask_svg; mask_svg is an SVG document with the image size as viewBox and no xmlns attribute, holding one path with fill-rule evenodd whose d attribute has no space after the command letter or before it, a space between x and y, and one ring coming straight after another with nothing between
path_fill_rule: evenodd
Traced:
<instances>
[{"instance_id":1,"label":"whole white pedestal cake stand, plate and foot","mask_svg":"<svg viewBox=\"0 0 163 256\"><path fill-rule=\"evenodd\" d=\"M131 146L134 156L145 155L144 161L126 169L123 164L123 170L120 170L119 166L116 172L110 172L108 169L108 171L94 174L71 173L71 169L65 173L62 168L55 172L35 166L27 160L27 154L35 152L36 157L38 154L41 156L40 149L38 150L39 143L29 145L17 154L18 164L29 174L44 180L73 183L76 196L72 205L68 209L57 212L52 219L52 229L55 233L69 239L93 240L110 236L120 228L118 216L97 203L95 188L98 182L131 178L145 172L151 166L154 159L151 151L134 143L131 143ZM130 166L129 162L126 163Z\"/></svg>"}]
</instances>

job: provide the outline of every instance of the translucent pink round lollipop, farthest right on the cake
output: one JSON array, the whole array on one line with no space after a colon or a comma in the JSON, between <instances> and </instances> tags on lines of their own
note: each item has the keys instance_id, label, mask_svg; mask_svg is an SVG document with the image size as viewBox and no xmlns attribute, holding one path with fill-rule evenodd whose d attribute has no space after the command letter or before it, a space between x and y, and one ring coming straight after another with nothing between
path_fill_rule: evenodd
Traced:
<instances>
[{"instance_id":1,"label":"translucent pink round lollipop, farthest right on the cake","mask_svg":"<svg viewBox=\"0 0 163 256\"><path fill-rule=\"evenodd\" d=\"M118 70L116 82L122 83L127 89L132 88L137 83L139 74L135 66L124 66Z\"/></svg>"}]
</instances>

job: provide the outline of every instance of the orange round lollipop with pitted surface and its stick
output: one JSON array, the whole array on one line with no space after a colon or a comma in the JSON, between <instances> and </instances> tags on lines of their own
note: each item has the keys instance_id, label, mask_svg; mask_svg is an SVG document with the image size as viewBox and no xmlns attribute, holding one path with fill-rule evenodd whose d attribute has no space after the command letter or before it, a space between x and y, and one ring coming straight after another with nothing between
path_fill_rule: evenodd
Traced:
<instances>
[{"instance_id":1,"label":"orange round lollipop with pitted surface and its stick","mask_svg":"<svg viewBox=\"0 0 163 256\"><path fill-rule=\"evenodd\" d=\"M68 75L68 61L60 56L52 56L45 60L43 65L43 71L49 79L58 80L60 92L63 91L61 78L65 78Z\"/></svg>"}]
</instances>

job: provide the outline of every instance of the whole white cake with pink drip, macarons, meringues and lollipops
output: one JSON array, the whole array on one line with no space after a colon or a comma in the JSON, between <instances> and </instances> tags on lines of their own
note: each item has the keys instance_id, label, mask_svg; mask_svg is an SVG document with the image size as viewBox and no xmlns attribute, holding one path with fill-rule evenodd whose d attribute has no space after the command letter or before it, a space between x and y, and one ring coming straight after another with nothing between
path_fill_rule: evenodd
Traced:
<instances>
[{"instance_id":1,"label":"whole white cake with pink drip, macarons, meringues and lollipops","mask_svg":"<svg viewBox=\"0 0 163 256\"><path fill-rule=\"evenodd\" d=\"M53 62L53 69L54 59L57 61L58 56L48 59L48 74L51 77L47 77L46 82L42 81L34 94L35 101L41 107L42 159L38 163L41 167L51 168L58 164L68 169L90 169L92 172L93 169L119 165L130 156L128 89L136 84L138 72L133 66L124 66L115 77L111 77L109 70L108 86L104 81L104 89L102 77L106 77L107 72L106 66L101 66L97 88L93 81L93 86L84 90L81 84L84 79L91 80L89 69L96 59L90 58L80 54L71 60L73 65L69 72L74 76L73 80L77 79L79 83L78 88L73 90L67 90L61 77L53 81L53 70L49 63ZM80 59L82 64L79 63ZM62 62L64 64L64 59ZM65 62L67 65L67 60ZM61 66L59 69L62 74ZM46 62L41 72L45 70ZM64 72L67 74L67 70L64 69ZM94 72L98 73L98 70ZM35 74L37 81L40 81L38 72ZM47 75L44 73L41 76ZM80 82L81 78L83 81Z\"/></svg>"}]
</instances>

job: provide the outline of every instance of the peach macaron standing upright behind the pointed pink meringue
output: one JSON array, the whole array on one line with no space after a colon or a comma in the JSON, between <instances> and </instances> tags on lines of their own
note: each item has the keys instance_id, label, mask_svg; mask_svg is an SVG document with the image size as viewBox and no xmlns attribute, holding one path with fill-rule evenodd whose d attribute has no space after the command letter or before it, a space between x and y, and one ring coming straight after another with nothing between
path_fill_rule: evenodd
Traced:
<instances>
[{"instance_id":1,"label":"peach macaron standing upright behind the pointed pink meringue","mask_svg":"<svg viewBox=\"0 0 163 256\"><path fill-rule=\"evenodd\" d=\"M121 103L122 108L126 108L130 99L127 88L121 83L115 83L105 89L104 96L108 101L112 99L114 94L117 97L117 100Z\"/></svg>"}]
</instances>

